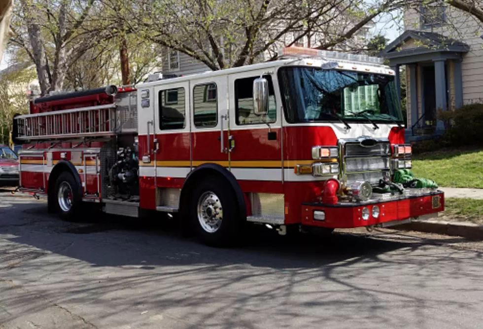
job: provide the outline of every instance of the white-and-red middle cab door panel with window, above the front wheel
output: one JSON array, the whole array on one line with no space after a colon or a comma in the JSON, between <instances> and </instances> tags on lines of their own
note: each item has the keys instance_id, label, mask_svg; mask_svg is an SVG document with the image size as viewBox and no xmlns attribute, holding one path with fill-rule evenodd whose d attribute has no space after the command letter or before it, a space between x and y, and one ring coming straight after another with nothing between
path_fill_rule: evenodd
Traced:
<instances>
[{"instance_id":1,"label":"white-and-red middle cab door panel with window, above the front wheel","mask_svg":"<svg viewBox=\"0 0 483 329\"><path fill-rule=\"evenodd\" d=\"M228 167L228 77L191 81L191 140L193 167L216 163Z\"/></svg>"}]
</instances>

